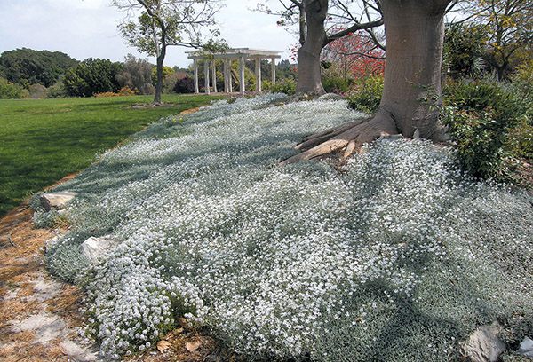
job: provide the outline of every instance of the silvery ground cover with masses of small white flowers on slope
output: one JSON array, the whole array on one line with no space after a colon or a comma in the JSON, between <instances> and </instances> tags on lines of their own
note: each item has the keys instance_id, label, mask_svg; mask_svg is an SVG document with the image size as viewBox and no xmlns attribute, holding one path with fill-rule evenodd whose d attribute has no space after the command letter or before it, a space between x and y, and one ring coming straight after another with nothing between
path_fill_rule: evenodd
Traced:
<instances>
[{"instance_id":1,"label":"silvery ground cover with masses of small white flowers on slope","mask_svg":"<svg viewBox=\"0 0 533 362\"><path fill-rule=\"evenodd\" d=\"M145 350L184 313L265 360L449 361L494 320L509 342L533 333L530 195L417 140L379 140L340 172L277 168L303 135L363 116L283 100L163 119L56 188L79 195L48 266L86 288L102 354ZM91 268L80 244L106 234L118 247Z\"/></svg>"}]
</instances>

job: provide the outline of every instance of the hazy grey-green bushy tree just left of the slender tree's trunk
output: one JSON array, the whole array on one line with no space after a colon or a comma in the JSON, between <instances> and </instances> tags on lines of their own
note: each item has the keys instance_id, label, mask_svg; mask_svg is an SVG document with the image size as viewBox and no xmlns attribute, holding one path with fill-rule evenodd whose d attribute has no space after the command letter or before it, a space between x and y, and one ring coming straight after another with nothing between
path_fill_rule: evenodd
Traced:
<instances>
[{"instance_id":1,"label":"hazy grey-green bushy tree just left of the slender tree's trunk","mask_svg":"<svg viewBox=\"0 0 533 362\"><path fill-rule=\"evenodd\" d=\"M128 54L123 63L123 71L116 75L116 80L120 88L129 87L132 91L139 91L140 94L154 94L155 87L152 85L154 68L147 59L137 59Z\"/></svg>"}]
</instances>

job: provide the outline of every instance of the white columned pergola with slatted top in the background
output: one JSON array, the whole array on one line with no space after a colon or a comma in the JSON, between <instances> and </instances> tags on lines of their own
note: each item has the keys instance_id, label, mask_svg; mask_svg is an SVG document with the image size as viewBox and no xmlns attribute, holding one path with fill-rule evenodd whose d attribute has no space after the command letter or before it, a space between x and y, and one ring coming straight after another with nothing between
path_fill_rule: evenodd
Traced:
<instances>
[{"instance_id":1,"label":"white columned pergola with slatted top in the background","mask_svg":"<svg viewBox=\"0 0 533 362\"><path fill-rule=\"evenodd\" d=\"M250 48L232 48L224 52L202 53L198 51L187 51L188 59L193 59L195 69L195 93L200 93L198 86L198 63L203 61L203 71L205 72L205 94L210 94L210 63L212 69L213 91L217 92L217 68L215 60L224 60L224 91L231 93L233 91L231 82L231 62L239 60L239 84L240 93L244 94L244 60L255 59L256 61L256 91L261 91L261 59L272 60L272 83L275 83L275 59L282 58L281 51L263 51L260 49Z\"/></svg>"}]
</instances>

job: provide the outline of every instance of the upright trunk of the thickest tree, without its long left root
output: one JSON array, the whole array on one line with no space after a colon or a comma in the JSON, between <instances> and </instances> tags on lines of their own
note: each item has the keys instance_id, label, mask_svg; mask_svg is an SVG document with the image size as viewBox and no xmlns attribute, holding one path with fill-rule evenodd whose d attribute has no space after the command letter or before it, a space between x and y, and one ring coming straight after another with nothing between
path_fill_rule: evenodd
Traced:
<instances>
[{"instance_id":1,"label":"upright trunk of the thickest tree, without its long left root","mask_svg":"<svg viewBox=\"0 0 533 362\"><path fill-rule=\"evenodd\" d=\"M405 137L415 130L441 140L438 112L421 99L440 96L443 15L449 1L383 1L386 24L385 85L380 107Z\"/></svg>"}]
</instances>

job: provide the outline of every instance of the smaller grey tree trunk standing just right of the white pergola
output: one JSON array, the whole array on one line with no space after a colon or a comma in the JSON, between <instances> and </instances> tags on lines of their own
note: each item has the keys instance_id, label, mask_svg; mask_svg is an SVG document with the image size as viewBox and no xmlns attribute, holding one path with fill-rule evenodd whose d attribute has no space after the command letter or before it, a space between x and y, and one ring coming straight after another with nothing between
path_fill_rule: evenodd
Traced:
<instances>
[{"instance_id":1,"label":"smaller grey tree trunk standing just right of the white pergola","mask_svg":"<svg viewBox=\"0 0 533 362\"><path fill-rule=\"evenodd\" d=\"M309 96L325 93L322 87L320 53L327 35L324 21L328 13L327 0L306 0L306 39L298 50L298 83L296 92Z\"/></svg>"}]
</instances>

